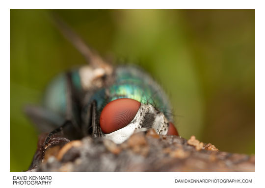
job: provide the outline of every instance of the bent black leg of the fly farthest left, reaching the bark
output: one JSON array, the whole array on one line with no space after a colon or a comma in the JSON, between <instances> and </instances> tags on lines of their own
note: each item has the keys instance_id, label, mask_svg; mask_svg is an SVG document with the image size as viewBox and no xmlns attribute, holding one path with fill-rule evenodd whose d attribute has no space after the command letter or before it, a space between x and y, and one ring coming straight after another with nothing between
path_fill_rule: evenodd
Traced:
<instances>
[{"instance_id":1,"label":"bent black leg of the fly farthest left, reaching the bark","mask_svg":"<svg viewBox=\"0 0 265 188\"><path fill-rule=\"evenodd\" d=\"M47 149L47 147L49 146L49 142L51 141L53 135L58 133L62 134L66 128L69 128L70 130L75 129L76 131L79 131L77 122L73 118L73 101L74 101L74 95L73 95L73 83L72 83L71 72L67 72L66 73L66 118L65 118L66 120L60 127L54 129L52 132L49 133L43 144L44 150Z\"/></svg>"}]
</instances>

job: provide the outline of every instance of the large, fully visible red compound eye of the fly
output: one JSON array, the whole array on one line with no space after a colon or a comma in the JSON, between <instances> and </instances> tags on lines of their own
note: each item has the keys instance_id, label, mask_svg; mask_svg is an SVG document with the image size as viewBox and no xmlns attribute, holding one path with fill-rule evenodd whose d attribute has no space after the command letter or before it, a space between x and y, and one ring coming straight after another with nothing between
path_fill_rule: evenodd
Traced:
<instances>
[{"instance_id":1,"label":"large, fully visible red compound eye of the fly","mask_svg":"<svg viewBox=\"0 0 265 188\"><path fill-rule=\"evenodd\" d=\"M141 103L131 98L109 102L100 115L100 127L105 134L127 126L137 114Z\"/></svg>"}]
</instances>

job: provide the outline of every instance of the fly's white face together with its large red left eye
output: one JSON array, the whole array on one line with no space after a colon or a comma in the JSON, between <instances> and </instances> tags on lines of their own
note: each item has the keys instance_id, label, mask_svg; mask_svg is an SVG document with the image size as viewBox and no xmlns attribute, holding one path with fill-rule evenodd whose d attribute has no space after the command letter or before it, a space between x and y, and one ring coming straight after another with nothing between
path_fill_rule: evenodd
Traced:
<instances>
[{"instance_id":1,"label":"fly's white face together with its large red left eye","mask_svg":"<svg viewBox=\"0 0 265 188\"><path fill-rule=\"evenodd\" d=\"M168 120L153 105L140 103L129 98L111 101L103 109L100 127L104 136L115 143L127 140L134 131L146 131L150 128L158 134L168 131Z\"/></svg>"}]
</instances>

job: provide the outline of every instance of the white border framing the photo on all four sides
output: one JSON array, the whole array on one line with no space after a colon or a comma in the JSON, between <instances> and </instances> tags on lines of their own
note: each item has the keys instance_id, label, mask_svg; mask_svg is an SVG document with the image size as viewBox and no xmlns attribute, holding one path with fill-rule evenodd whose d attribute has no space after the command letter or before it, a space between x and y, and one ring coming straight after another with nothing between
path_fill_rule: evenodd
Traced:
<instances>
[{"instance_id":1,"label":"white border framing the photo on all four sides","mask_svg":"<svg viewBox=\"0 0 265 188\"><path fill-rule=\"evenodd\" d=\"M9 62L9 8L256 8L256 172L68 172L68 173L27 173L27 175L41 175L52 174L53 185L48 187L109 187L115 185L116 187L135 187L139 185L156 186L156 187L223 187L223 186L238 186L238 184L182 184L174 183L174 180L179 178L247 178L252 179L252 184L240 184L240 187L256 186L258 184L264 185L264 147L263 138L265 133L265 58L264 58L264 6L262 1L254 0L185 0L185 1L171 1L171 0L10 0L1 2L0 23L1 23L1 107L0 115L3 119L1 121L1 187L11 187L13 175L25 175L23 172L9 172L9 124L10 124L10 66ZM8 100L9 99L9 100ZM6 173L8 172L8 173ZM19 186L23 187L23 186ZM42 186L43 187L43 186Z\"/></svg>"}]
</instances>

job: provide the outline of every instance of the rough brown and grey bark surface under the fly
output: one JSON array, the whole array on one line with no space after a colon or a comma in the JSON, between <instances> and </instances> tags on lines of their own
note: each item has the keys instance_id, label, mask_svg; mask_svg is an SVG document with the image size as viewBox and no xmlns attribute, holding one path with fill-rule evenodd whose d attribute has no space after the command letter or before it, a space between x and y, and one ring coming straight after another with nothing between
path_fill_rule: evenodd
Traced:
<instances>
[{"instance_id":1,"label":"rough brown and grey bark surface under the fly","mask_svg":"<svg viewBox=\"0 0 265 188\"><path fill-rule=\"evenodd\" d=\"M191 137L133 134L122 144L85 137L53 145L29 171L255 171L255 155L218 151Z\"/></svg>"}]
</instances>

